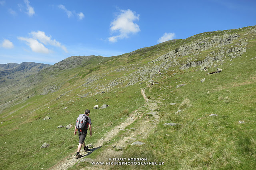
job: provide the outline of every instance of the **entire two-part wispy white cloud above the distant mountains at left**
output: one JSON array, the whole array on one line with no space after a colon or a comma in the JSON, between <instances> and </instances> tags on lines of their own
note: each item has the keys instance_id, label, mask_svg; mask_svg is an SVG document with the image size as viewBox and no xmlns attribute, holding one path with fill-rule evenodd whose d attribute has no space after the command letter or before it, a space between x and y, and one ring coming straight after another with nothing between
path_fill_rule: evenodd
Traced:
<instances>
[{"instance_id":1,"label":"entire two-part wispy white cloud above the distant mountains at left","mask_svg":"<svg viewBox=\"0 0 256 170\"><path fill-rule=\"evenodd\" d=\"M34 52L50 53L51 51L44 45L52 45L55 47L60 47L62 50L68 53L68 50L64 45L61 45L61 43L56 41L55 39L52 40L52 36L46 36L45 33L42 31L32 31L31 33L29 33L29 35L31 35L32 38L18 37L18 39L25 41Z\"/></svg>"}]
</instances>

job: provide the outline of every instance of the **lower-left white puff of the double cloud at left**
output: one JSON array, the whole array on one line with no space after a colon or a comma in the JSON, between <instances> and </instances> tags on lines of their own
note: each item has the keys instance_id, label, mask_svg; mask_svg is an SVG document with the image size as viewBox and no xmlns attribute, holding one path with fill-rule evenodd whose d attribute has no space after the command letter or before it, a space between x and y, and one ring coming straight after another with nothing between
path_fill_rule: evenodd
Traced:
<instances>
[{"instance_id":1,"label":"lower-left white puff of the double cloud at left","mask_svg":"<svg viewBox=\"0 0 256 170\"><path fill-rule=\"evenodd\" d=\"M49 53L49 49L46 48L42 43L39 43L36 39L24 37L18 37L18 39L27 42L32 51L36 53Z\"/></svg>"}]
</instances>

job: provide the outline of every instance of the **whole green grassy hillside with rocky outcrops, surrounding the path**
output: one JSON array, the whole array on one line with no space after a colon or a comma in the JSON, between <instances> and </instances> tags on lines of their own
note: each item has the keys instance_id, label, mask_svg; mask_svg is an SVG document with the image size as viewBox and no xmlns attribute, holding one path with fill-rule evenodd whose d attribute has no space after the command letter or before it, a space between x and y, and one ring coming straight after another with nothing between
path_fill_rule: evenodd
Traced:
<instances>
[{"instance_id":1,"label":"whole green grassy hillside with rocky outcrops, surrounding the path","mask_svg":"<svg viewBox=\"0 0 256 170\"><path fill-rule=\"evenodd\" d=\"M140 89L145 89L148 98L157 103L159 122L144 114L130 125L137 128L146 119L154 128L147 138L138 136L143 146L128 144L122 158L147 158L164 165L112 169L253 169L255 54L256 27L252 26L202 33L109 58L65 59L0 89L0 153L4 155L0 167L54 166L77 148L78 136L73 131L79 114L91 110L93 135L86 137L86 143L95 143L133 111L144 108ZM204 67L208 72L200 70ZM222 72L208 74L217 67ZM93 110L94 105L103 104L110 106ZM182 111L176 113L178 110ZM51 119L42 120L46 116ZM57 128L69 124L70 129ZM117 138L125 135L120 132ZM40 149L43 143L49 147ZM90 156L97 157L104 148ZM93 167L80 163L73 168L84 166Z\"/></svg>"}]
</instances>

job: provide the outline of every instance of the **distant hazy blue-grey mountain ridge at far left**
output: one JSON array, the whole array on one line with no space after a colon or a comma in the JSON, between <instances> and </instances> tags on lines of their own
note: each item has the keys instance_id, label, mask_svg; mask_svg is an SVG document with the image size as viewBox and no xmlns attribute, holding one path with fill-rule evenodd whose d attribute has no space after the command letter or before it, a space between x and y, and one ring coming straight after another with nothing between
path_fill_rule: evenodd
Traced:
<instances>
[{"instance_id":1,"label":"distant hazy blue-grey mountain ridge at far left","mask_svg":"<svg viewBox=\"0 0 256 170\"><path fill-rule=\"evenodd\" d=\"M10 85L50 66L52 65L34 62L0 64L0 87Z\"/></svg>"}]
</instances>

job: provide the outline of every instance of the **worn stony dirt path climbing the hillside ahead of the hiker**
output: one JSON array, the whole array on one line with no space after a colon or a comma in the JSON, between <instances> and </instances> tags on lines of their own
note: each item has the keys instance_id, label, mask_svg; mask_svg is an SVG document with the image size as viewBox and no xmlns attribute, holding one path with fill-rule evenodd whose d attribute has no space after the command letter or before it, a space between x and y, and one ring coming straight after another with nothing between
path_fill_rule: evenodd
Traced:
<instances>
[{"instance_id":1,"label":"worn stony dirt path climbing the hillside ahead of the hiker","mask_svg":"<svg viewBox=\"0 0 256 170\"><path fill-rule=\"evenodd\" d=\"M74 155L67 158L62 162L59 162L52 168L51 170L66 170L69 167L73 166L76 162L109 162L109 159L112 158L122 158L123 149L126 148L129 144L135 141L139 141L140 138L146 138L148 133L154 128L156 122L159 121L158 112L154 111L157 108L157 104L154 100L149 100L146 97L146 93L144 89L141 89L142 96L144 97L146 104L144 109L138 108L136 111L132 112L127 119L120 125L114 127L110 132L108 132L102 139L99 139L96 144L93 144L93 147L88 149L88 152L84 152L81 149L80 154L82 154L82 158L75 159ZM143 111L142 111L143 110ZM154 120L149 121L148 119L141 119L143 115L145 115L148 111L154 111L156 115L153 115ZM136 119L139 119L140 126L138 128L134 128L128 130L127 134L124 137L121 137L118 141L114 142L111 146L106 147L96 159L92 160L88 158L88 155L92 153L94 150L101 148L104 142L110 142L114 136L116 136L121 130L124 130L128 125L132 124ZM138 137L139 136L139 137ZM109 169L110 166L106 165L93 165L92 167L88 167L89 169L102 169L104 170Z\"/></svg>"}]
</instances>

